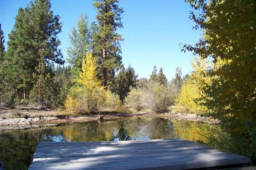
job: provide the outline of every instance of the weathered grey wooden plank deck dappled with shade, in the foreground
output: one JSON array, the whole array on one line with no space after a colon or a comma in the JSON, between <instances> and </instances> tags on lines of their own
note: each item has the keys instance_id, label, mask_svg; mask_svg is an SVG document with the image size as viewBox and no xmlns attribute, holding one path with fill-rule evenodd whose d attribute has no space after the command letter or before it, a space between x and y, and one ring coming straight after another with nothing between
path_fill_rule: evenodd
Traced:
<instances>
[{"instance_id":1,"label":"weathered grey wooden plank deck dappled with shade, in the foreground","mask_svg":"<svg viewBox=\"0 0 256 170\"><path fill-rule=\"evenodd\" d=\"M183 139L39 142L29 170L193 169L249 164L251 159Z\"/></svg>"}]
</instances>

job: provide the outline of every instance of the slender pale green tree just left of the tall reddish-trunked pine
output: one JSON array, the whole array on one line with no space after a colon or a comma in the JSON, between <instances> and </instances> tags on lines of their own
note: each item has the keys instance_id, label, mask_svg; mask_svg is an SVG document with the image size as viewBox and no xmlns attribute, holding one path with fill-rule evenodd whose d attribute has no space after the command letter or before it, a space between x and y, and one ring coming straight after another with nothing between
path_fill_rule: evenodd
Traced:
<instances>
[{"instance_id":1,"label":"slender pale green tree just left of the tall reddish-trunked pine","mask_svg":"<svg viewBox=\"0 0 256 170\"><path fill-rule=\"evenodd\" d=\"M71 71L77 78L79 71L82 71L82 61L86 56L86 51L90 50L92 43L92 34L88 28L88 16L86 14L80 14L77 20L77 29L73 26L68 37L71 47L66 49L67 62L72 66Z\"/></svg>"}]
</instances>

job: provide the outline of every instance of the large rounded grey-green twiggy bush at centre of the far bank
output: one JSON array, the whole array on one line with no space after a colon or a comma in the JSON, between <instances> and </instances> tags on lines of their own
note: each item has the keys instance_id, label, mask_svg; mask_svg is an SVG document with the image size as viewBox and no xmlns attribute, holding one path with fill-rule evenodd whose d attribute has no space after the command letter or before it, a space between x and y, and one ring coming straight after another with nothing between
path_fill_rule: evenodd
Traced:
<instances>
[{"instance_id":1,"label":"large rounded grey-green twiggy bush at centre of the far bank","mask_svg":"<svg viewBox=\"0 0 256 170\"><path fill-rule=\"evenodd\" d=\"M168 107L174 104L178 93L179 90L174 84L161 85L156 82L150 82L142 99L143 105L156 113L168 112Z\"/></svg>"}]
</instances>

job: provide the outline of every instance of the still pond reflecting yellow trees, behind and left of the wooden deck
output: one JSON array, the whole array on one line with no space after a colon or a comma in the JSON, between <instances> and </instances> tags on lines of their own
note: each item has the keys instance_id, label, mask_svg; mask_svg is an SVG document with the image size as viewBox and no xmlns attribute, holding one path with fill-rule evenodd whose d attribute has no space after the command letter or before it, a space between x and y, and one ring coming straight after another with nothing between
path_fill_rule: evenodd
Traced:
<instances>
[{"instance_id":1,"label":"still pond reflecting yellow trees, behind and left of the wooden deck","mask_svg":"<svg viewBox=\"0 0 256 170\"><path fill-rule=\"evenodd\" d=\"M28 169L39 141L86 142L182 138L243 154L241 144L218 125L163 118L128 117L0 133L0 169ZM242 147L242 148L241 148Z\"/></svg>"}]
</instances>

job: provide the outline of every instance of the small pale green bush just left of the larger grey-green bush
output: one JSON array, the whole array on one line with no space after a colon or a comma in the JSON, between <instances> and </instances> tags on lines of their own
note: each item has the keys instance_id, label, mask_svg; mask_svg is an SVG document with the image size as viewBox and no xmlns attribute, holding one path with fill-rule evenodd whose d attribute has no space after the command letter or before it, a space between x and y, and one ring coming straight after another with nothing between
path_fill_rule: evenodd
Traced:
<instances>
[{"instance_id":1,"label":"small pale green bush just left of the larger grey-green bush","mask_svg":"<svg viewBox=\"0 0 256 170\"><path fill-rule=\"evenodd\" d=\"M145 95L145 89L137 87L131 88L127 97L125 97L125 105L140 111L143 108L142 97Z\"/></svg>"}]
</instances>

